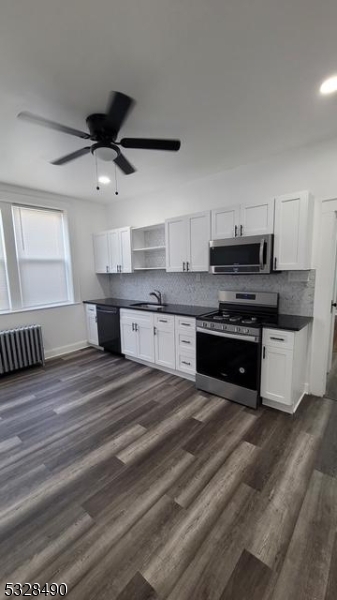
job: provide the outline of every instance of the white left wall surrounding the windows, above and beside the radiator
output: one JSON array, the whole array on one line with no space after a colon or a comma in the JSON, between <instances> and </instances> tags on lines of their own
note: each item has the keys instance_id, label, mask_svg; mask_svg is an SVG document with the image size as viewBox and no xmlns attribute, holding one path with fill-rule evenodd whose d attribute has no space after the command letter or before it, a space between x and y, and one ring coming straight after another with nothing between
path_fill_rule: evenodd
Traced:
<instances>
[{"instance_id":1,"label":"white left wall surrounding the windows, above and beside the radiator","mask_svg":"<svg viewBox=\"0 0 337 600\"><path fill-rule=\"evenodd\" d=\"M46 357L84 347L87 334L82 301L106 295L101 279L94 273L92 246L93 231L106 228L106 206L0 184L0 208L1 200L53 206L67 211L75 304L0 315L0 330L31 323L41 324Z\"/></svg>"}]
</instances>

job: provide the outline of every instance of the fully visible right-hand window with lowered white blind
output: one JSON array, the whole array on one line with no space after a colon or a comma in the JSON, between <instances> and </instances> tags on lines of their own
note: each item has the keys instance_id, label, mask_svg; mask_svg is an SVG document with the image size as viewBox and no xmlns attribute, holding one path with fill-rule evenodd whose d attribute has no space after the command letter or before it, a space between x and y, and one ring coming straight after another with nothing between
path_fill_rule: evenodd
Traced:
<instances>
[{"instance_id":1,"label":"fully visible right-hand window with lowered white blind","mask_svg":"<svg viewBox=\"0 0 337 600\"><path fill-rule=\"evenodd\" d=\"M13 206L21 305L50 306L73 300L64 214Z\"/></svg>"}]
</instances>

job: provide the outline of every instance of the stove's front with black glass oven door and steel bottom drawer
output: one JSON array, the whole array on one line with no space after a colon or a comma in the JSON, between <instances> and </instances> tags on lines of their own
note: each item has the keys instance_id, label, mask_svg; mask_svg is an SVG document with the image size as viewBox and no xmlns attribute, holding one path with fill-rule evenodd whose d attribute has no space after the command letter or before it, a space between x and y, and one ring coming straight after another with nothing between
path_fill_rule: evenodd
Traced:
<instances>
[{"instance_id":1,"label":"stove's front with black glass oven door and steel bottom drawer","mask_svg":"<svg viewBox=\"0 0 337 600\"><path fill-rule=\"evenodd\" d=\"M260 356L258 338L197 327L197 387L257 408Z\"/></svg>"}]
</instances>

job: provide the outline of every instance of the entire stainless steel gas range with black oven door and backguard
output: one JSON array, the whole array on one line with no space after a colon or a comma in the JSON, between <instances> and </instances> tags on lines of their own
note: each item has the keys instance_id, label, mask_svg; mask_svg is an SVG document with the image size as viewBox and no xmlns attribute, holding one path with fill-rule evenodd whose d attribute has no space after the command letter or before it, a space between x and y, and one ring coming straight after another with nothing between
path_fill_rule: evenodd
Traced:
<instances>
[{"instance_id":1,"label":"entire stainless steel gas range with black oven door and backguard","mask_svg":"<svg viewBox=\"0 0 337 600\"><path fill-rule=\"evenodd\" d=\"M257 408L262 325L277 315L277 293L219 292L219 310L197 320L197 388Z\"/></svg>"}]
</instances>

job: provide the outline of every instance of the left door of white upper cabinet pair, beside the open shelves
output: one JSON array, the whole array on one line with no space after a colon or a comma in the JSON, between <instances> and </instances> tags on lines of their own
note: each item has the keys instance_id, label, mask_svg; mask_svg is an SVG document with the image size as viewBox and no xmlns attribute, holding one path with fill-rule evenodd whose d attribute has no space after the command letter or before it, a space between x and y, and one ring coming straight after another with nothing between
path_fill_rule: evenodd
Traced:
<instances>
[{"instance_id":1,"label":"left door of white upper cabinet pair, beside the open shelves","mask_svg":"<svg viewBox=\"0 0 337 600\"><path fill-rule=\"evenodd\" d=\"M186 270L187 219L177 217L165 222L166 271L180 273Z\"/></svg>"}]
</instances>

